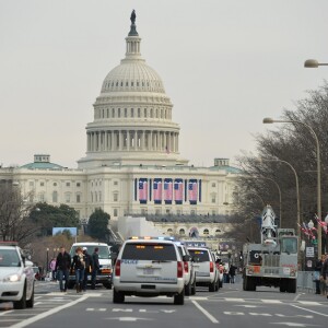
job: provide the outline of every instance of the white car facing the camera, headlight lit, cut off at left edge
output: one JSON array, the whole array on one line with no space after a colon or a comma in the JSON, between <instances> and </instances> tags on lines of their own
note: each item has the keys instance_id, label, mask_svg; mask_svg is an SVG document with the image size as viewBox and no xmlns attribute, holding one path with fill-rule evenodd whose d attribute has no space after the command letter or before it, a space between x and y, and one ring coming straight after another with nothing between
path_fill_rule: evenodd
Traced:
<instances>
[{"instance_id":1,"label":"white car facing the camera, headlight lit, cut off at left edge","mask_svg":"<svg viewBox=\"0 0 328 328\"><path fill-rule=\"evenodd\" d=\"M0 243L0 303L13 302L14 308L33 307L34 271L25 263L22 249Z\"/></svg>"}]
</instances>

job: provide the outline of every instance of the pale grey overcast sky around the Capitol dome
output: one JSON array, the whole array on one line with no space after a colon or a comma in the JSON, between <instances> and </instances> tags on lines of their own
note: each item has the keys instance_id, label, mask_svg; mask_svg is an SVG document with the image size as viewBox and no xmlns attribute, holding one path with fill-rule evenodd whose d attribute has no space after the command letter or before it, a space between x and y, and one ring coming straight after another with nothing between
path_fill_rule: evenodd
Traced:
<instances>
[{"instance_id":1,"label":"pale grey overcast sky around the Capitol dome","mask_svg":"<svg viewBox=\"0 0 328 328\"><path fill-rule=\"evenodd\" d=\"M35 153L77 167L103 80L125 57L132 9L195 165L254 151L257 133L328 68L327 0L0 0L0 163Z\"/></svg>"}]
</instances>

